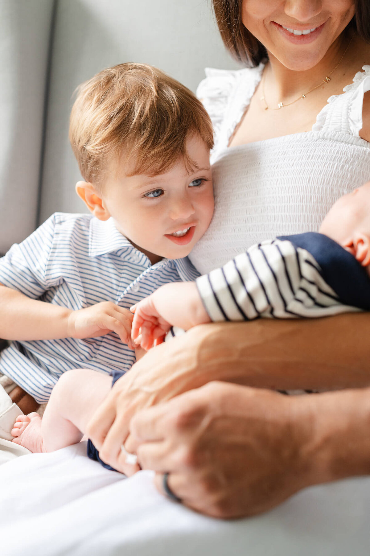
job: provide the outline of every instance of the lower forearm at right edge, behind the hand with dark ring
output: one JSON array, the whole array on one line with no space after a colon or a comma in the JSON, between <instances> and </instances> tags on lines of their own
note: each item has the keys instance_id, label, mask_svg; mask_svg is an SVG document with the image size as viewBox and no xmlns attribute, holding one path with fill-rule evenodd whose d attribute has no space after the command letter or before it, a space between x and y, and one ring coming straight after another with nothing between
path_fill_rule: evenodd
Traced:
<instances>
[{"instance_id":1,"label":"lower forearm at right edge, behind the hand with dark ring","mask_svg":"<svg viewBox=\"0 0 370 556\"><path fill-rule=\"evenodd\" d=\"M370 474L369 388L304 396L293 404L304 486Z\"/></svg>"}]
</instances>

